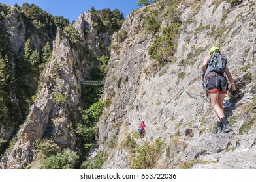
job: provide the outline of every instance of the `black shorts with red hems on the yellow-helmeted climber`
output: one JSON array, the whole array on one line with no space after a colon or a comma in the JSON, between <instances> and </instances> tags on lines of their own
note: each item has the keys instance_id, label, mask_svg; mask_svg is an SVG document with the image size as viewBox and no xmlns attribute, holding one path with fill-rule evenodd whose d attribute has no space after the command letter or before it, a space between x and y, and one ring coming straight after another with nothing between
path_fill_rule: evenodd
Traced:
<instances>
[{"instance_id":1,"label":"black shorts with red hems on the yellow-helmeted climber","mask_svg":"<svg viewBox=\"0 0 256 182\"><path fill-rule=\"evenodd\" d=\"M227 94L229 89L225 75L219 75L215 72L209 73L204 79L204 83L209 93Z\"/></svg>"}]
</instances>

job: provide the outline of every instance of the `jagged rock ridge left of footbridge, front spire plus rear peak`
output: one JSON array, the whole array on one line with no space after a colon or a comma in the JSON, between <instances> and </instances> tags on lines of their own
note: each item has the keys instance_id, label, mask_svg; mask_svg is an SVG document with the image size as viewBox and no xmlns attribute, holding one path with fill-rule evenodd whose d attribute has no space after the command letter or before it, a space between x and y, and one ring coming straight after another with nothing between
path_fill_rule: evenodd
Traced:
<instances>
[{"instance_id":1,"label":"jagged rock ridge left of footbridge, front spire plus rear peak","mask_svg":"<svg viewBox=\"0 0 256 182\"><path fill-rule=\"evenodd\" d=\"M91 65L83 47L95 47L96 56L103 54L96 49L97 46L106 51L105 45L110 44L108 35L95 40L99 34L93 29L95 19L97 21L95 16L85 13L78 18L78 23L74 23L74 29L80 32L79 47L72 47L68 35L57 29L52 59L40 75L41 84L35 103L18 132L14 148L2 157L1 168L25 168L33 162L37 156L35 142L43 136L51 136L61 148L75 148L77 138L69 116L75 112L79 102L80 80L88 75ZM89 36L84 35L85 31Z\"/></svg>"}]
</instances>

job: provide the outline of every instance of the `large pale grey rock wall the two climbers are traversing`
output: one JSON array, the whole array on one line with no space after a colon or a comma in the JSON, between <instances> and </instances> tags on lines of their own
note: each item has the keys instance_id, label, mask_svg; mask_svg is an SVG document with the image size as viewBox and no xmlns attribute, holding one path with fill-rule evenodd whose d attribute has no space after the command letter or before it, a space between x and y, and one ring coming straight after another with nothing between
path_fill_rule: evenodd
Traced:
<instances>
[{"instance_id":1,"label":"large pale grey rock wall the two climbers are traversing","mask_svg":"<svg viewBox=\"0 0 256 182\"><path fill-rule=\"evenodd\" d=\"M104 94L112 105L98 124L99 148L110 153L103 168L133 167L136 157L131 156L159 137L165 146L151 167L182 168L192 163L193 168L256 168L255 1L168 5L163 1L133 12L120 29L127 31L122 42L113 38L118 49L111 52ZM166 17L173 7L180 17L180 33L174 57L161 68L148 53L157 36L148 31L145 17L158 12L156 34L163 36L163 29L173 23ZM200 78L202 60L214 45L227 56L236 87L244 93L239 99L225 98L225 114L234 132L219 135L213 134L216 115ZM143 139L135 136L139 118L146 120ZM135 153L125 147L129 134L138 145Z\"/></svg>"}]
</instances>

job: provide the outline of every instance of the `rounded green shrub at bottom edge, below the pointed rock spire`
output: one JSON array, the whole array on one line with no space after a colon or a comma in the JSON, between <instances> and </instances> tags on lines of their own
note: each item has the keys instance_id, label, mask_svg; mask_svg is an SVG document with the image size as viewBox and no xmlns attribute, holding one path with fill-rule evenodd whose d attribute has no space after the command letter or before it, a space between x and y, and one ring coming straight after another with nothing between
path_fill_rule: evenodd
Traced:
<instances>
[{"instance_id":1,"label":"rounded green shrub at bottom edge, below the pointed rock spire","mask_svg":"<svg viewBox=\"0 0 256 182\"><path fill-rule=\"evenodd\" d=\"M65 149L57 155L46 157L42 161L44 169L73 169L78 163L79 156L75 151Z\"/></svg>"}]
</instances>

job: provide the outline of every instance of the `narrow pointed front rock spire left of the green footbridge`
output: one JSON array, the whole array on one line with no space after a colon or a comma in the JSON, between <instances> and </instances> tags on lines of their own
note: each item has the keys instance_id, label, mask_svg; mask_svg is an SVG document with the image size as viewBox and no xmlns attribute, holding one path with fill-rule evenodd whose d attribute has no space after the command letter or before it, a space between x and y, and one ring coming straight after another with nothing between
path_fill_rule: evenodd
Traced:
<instances>
[{"instance_id":1,"label":"narrow pointed front rock spire left of the green footbridge","mask_svg":"<svg viewBox=\"0 0 256 182\"><path fill-rule=\"evenodd\" d=\"M18 142L14 149L2 158L2 168L24 168L33 161L35 141L42 138L49 120L57 120L53 130L56 131L59 127L63 133L56 137L56 142L74 147L75 136L67 127L67 115L78 103L78 87L71 88L71 85L78 83L73 71L72 50L68 40L61 40L61 36L62 32L59 30L54 42L52 60L41 75L41 79L44 79L42 89L18 133ZM54 98L60 94L66 99L54 102Z\"/></svg>"}]
</instances>

